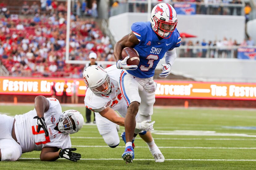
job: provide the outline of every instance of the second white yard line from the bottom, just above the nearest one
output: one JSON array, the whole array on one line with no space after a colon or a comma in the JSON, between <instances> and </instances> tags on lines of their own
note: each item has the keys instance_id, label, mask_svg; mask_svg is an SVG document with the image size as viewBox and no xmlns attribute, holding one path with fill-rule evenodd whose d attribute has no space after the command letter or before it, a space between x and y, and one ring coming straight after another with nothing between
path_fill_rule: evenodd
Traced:
<instances>
[{"instance_id":1,"label":"second white yard line from the bottom, just above the nearest one","mask_svg":"<svg viewBox=\"0 0 256 170\"><path fill-rule=\"evenodd\" d=\"M72 145L72 147L83 148L108 148L109 146L92 146L92 145ZM124 148L117 146L116 148ZM147 146L136 146L136 148L148 148ZM176 149L256 149L256 148L228 148L228 147L178 147L178 146L159 146L158 148L176 148Z\"/></svg>"}]
</instances>

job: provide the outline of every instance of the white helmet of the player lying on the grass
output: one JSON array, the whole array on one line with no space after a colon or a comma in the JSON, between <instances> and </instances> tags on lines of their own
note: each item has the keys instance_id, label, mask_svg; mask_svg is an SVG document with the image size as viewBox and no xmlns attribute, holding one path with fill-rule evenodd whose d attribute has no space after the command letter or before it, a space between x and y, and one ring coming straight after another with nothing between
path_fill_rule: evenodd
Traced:
<instances>
[{"instance_id":1,"label":"white helmet of the player lying on the grass","mask_svg":"<svg viewBox=\"0 0 256 170\"><path fill-rule=\"evenodd\" d=\"M72 120L75 122L72 123ZM65 121L67 120L67 121ZM60 115L58 129L64 134L72 134L78 132L84 124L84 117L76 110L66 110Z\"/></svg>"}]
</instances>

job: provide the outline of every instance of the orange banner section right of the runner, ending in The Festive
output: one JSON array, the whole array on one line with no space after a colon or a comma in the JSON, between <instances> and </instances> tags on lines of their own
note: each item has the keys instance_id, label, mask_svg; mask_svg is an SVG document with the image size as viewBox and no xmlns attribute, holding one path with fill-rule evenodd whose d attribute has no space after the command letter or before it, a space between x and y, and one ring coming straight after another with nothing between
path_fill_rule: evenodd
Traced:
<instances>
[{"instance_id":1,"label":"orange banner section right of the runner, ending in The Festive","mask_svg":"<svg viewBox=\"0 0 256 170\"><path fill-rule=\"evenodd\" d=\"M256 83L156 81L156 97L256 100Z\"/></svg>"}]
</instances>

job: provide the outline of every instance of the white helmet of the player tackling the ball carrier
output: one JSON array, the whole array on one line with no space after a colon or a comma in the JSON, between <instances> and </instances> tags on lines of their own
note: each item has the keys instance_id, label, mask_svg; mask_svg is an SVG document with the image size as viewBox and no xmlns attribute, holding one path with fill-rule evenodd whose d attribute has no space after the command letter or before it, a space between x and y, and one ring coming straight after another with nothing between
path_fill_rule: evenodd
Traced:
<instances>
[{"instance_id":1,"label":"white helmet of the player tackling the ball carrier","mask_svg":"<svg viewBox=\"0 0 256 170\"><path fill-rule=\"evenodd\" d=\"M109 96L113 84L107 72L98 65L90 65L83 73L83 79L88 88L98 96Z\"/></svg>"}]
</instances>

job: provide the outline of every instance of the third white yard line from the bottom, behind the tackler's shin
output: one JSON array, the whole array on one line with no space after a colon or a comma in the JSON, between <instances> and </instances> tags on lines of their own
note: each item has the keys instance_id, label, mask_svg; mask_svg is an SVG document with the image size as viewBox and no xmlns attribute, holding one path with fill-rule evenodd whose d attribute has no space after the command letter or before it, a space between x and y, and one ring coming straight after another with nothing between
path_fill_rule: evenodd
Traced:
<instances>
[{"instance_id":1,"label":"third white yard line from the bottom, behind the tackler's shin","mask_svg":"<svg viewBox=\"0 0 256 170\"><path fill-rule=\"evenodd\" d=\"M102 137L82 137L82 136L76 136L76 137L70 137L74 139L103 139ZM136 140L142 139L137 137ZM244 138L154 138L154 140L256 140L256 139L244 139Z\"/></svg>"}]
</instances>

